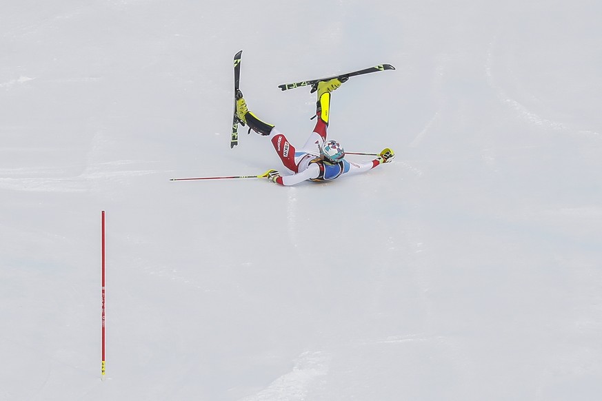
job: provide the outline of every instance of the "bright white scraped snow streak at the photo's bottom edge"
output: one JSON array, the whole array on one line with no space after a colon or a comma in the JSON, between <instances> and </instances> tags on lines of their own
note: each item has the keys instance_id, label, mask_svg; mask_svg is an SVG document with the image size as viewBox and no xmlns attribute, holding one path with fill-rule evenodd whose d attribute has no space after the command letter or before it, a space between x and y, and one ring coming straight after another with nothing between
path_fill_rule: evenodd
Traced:
<instances>
[{"instance_id":1,"label":"bright white scraped snow streak at the photo's bottom edge","mask_svg":"<svg viewBox=\"0 0 602 401\"><path fill-rule=\"evenodd\" d=\"M332 356L323 351L305 351L295 360L292 371L241 401L305 400L311 384L328 374L331 359Z\"/></svg>"}]
</instances>

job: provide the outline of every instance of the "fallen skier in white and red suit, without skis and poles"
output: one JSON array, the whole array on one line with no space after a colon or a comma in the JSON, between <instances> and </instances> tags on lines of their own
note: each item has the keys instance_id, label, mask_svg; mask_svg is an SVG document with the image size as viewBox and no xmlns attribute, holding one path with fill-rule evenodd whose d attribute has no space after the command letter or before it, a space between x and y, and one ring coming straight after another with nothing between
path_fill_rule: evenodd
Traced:
<instances>
[{"instance_id":1,"label":"fallen skier in white and red suit, without skis and poles","mask_svg":"<svg viewBox=\"0 0 602 401\"><path fill-rule=\"evenodd\" d=\"M344 81L343 81L344 82ZM278 156L284 167L292 172L292 175L281 176L275 170L265 172L268 180L280 185L295 185L302 181L331 181L345 174L357 174L367 172L382 163L389 163L395 154L389 148L385 148L377 158L365 163L351 163L345 160L345 150L337 141L326 140L326 129L330 111L330 92L341 86L338 78L330 81L320 81L317 85L317 110L318 121L314 131L301 149L297 150L291 145L282 132L274 125L264 123L248 110L243 94L238 90L237 117L250 130L264 136L268 136L274 145Z\"/></svg>"}]
</instances>

